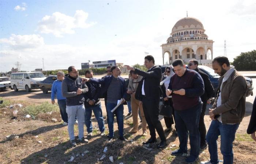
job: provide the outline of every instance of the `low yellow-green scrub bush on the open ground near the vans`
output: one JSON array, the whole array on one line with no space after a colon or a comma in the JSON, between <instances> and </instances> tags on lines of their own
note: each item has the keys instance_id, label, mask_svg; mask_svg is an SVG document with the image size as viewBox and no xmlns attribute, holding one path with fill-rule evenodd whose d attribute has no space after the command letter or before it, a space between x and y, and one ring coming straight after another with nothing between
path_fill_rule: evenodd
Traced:
<instances>
[{"instance_id":1,"label":"low yellow-green scrub bush on the open ground near the vans","mask_svg":"<svg viewBox=\"0 0 256 164\"><path fill-rule=\"evenodd\" d=\"M25 114L37 116L40 113L57 112L59 111L58 105L52 105L49 102L43 102L40 105L29 105L23 109Z\"/></svg>"}]
</instances>

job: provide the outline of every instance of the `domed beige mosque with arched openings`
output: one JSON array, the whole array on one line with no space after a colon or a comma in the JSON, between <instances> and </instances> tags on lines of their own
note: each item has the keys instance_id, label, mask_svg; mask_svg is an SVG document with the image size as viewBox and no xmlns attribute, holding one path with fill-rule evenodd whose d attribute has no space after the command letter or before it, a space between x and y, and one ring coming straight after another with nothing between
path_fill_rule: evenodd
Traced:
<instances>
[{"instance_id":1,"label":"domed beige mosque with arched openings","mask_svg":"<svg viewBox=\"0 0 256 164\"><path fill-rule=\"evenodd\" d=\"M196 59L200 65L210 65L213 42L205 34L200 20L184 17L173 26L170 37L161 45L163 64L171 64L175 59L182 59L185 63ZM169 61L164 61L165 55L169 55Z\"/></svg>"}]
</instances>

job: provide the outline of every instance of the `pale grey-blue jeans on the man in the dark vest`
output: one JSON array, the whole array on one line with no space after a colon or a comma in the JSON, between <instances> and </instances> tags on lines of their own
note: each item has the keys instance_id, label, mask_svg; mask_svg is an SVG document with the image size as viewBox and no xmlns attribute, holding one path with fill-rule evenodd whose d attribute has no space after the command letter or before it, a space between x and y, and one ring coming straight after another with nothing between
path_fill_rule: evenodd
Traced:
<instances>
[{"instance_id":1,"label":"pale grey-blue jeans on the man in the dark vest","mask_svg":"<svg viewBox=\"0 0 256 164\"><path fill-rule=\"evenodd\" d=\"M78 119L78 138L81 139L83 137L84 110L84 105L67 106L66 108L68 114L68 134L70 140L75 140L74 124L76 116Z\"/></svg>"}]
</instances>

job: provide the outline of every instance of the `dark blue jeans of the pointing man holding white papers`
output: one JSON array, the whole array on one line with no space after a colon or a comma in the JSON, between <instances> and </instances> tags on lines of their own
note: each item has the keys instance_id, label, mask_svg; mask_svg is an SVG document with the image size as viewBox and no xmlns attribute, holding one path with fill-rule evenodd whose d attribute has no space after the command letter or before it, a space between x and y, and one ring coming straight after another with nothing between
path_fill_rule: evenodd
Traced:
<instances>
[{"instance_id":1,"label":"dark blue jeans of the pointing man holding white papers","mask_svg":"<svg viewBox=\"0 0 256 164\"><path fill-rule=\"evenodd\" d=\"M107 102L107 113L108 113L108 127L109 127L109 137L114 136L114 113L116 114L117 125L118 125L118 132L119 136L123 136L124 132L124 105L121 104L118 108L112 113L111 110L117 104Z\"/></svg>"}]
</instances>

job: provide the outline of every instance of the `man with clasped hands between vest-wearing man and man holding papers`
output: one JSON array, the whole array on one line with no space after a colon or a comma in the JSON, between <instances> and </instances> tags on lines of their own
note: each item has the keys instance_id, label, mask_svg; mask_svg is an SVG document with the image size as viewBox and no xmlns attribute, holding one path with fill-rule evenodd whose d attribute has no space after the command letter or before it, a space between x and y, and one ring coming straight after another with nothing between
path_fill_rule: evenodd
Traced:
<instances>
[{"instance_id":1,"label":"man with clasped hands between vest-wearing man and man holding papers","mask_svg":"<svg viewBox=\"0 0 256 164\"><path fill-rule=\"evenodd\" d=\"M85 71L86 78L93 78L93 71L86 70ZM101 87L99 84L86 82L89 91L84 94L84 106L85 106L85 116L84 116L84 123L87 127L87 136L93 135L93 124L91 123L91 114L92 111L96 120L98 122L99 130L101 132L101 136L105 136L105 126L104 126L104 119L102 116L101 110L101 100L99 99L99 92Z\"/></svg>"}]
</instances>

